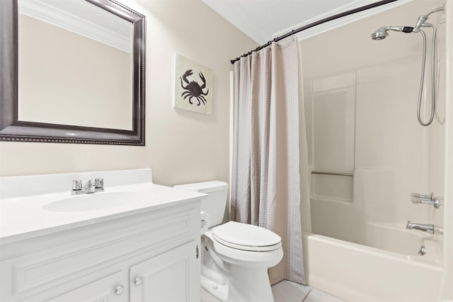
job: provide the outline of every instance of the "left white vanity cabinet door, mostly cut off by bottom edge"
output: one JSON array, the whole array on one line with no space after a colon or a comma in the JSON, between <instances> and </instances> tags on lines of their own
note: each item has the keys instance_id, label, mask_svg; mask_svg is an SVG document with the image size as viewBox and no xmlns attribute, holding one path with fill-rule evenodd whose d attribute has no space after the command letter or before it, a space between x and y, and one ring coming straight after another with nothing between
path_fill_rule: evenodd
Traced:
<instances>
[{"instance_id":1,"label":"left white vanity cabinet door, mostly cut off by bottom edge","mask_svg":"<svg viewBox=\"0 0 453 302\"><path fill-rule=\"evenodd\" d=\"M127 280L118 271L73 289L48 302L127 302Z\"/></svg>"}]
</instances>

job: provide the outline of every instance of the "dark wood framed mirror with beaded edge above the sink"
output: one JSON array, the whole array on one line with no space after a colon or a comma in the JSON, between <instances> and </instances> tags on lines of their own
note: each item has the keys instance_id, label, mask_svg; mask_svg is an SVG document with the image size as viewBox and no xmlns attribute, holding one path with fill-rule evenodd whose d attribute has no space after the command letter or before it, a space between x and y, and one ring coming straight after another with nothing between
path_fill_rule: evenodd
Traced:
<instances>
[{"instance_id":1,"label":"dark wood framed mirror with beaded edge above the sink","mask_svg":"<svg viewBox=\"0 0 453 302\"><path fill-rule=\"evenodd\" d=\"M115 0L1 0L0 141L144 146L145 26Z\"/></svg>"}]
</instances>

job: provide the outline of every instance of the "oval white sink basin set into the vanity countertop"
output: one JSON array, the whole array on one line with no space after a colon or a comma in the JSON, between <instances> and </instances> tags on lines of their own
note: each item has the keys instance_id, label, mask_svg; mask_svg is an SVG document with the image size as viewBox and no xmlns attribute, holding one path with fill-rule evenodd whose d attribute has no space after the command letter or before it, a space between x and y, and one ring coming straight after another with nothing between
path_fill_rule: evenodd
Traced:
<instances>
[{"instance_id":1,"label":"oval white sink basin set into the vanity countertop","mask_svg":"<svg viewBox=\"0 0 453 302\"><path fill-rule=\"evenodd\" d=\"M114 207L125 207L130 203L150 202L147 192L98 192L59 199L46 204L46 211L96 211Z\"/></svg>"}]
</instances>

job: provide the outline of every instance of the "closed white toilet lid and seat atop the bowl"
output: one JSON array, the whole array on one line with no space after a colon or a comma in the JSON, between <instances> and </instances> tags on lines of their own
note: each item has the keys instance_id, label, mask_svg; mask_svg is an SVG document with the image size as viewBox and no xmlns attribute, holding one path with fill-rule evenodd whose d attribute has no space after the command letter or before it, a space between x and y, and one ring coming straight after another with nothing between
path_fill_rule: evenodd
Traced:
<instances>
[{"instance_id":1,"label":"closed white toilet lid and seat atop the bowl","mask_svg":"<svg viewBox=\"0 0 453 302\"><path fill-rule=\"evenodd\" d=\"M217 242L230 248L251 251L267 251L280 248L282 238L260 226L229 221L212 229Z\"/></svg>"}]
</instances>

